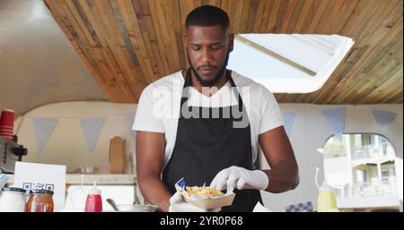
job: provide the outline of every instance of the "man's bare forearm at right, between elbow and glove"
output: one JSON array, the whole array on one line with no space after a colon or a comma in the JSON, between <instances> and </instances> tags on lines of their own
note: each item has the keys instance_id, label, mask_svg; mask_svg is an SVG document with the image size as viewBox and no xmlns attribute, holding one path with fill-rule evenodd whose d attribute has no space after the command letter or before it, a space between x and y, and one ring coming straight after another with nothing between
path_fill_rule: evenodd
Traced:
<instances>
[{"instance_id":1,"label":"man's bare forearm at right, between elbow and glove","mask_svg":"<svg viewBox=\"0 0 404 230\"><path fill-rule=\"evenodd\" d=\"M273 193L294 190L299 184L299 172L294 163L284 162L270 170L262 170L268 175L269 183L266 191Z\"/></svg>"}]
</instances>

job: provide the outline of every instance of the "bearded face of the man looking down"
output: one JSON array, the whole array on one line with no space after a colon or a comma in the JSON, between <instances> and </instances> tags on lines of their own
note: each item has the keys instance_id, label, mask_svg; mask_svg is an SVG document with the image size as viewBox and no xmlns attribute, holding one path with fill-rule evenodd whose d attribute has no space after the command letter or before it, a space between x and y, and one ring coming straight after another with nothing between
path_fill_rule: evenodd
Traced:
<instances>
[{"instance_id":1,"label":"bearded face of the man looking down","mask_svg":"<svg viewBox=\"0 0 404 230\"><path fill-rule=\"evenodd\" d=\"M184 43L189 64L202 86L211 87L220 80L233 51L233 40L233 34L220 25L189 27Z\"/></svg>"}]
</instances>

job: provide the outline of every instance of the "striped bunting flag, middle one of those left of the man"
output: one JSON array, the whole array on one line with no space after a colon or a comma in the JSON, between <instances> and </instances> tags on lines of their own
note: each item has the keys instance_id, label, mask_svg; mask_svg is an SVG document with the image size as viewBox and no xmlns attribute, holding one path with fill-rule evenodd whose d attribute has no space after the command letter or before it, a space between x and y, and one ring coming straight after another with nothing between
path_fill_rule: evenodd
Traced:
<instances>
[{"instance_id":1,"label":"striped bunting flag, middle one of those left of the man","mask_svg":"<svg viewBox=\"0 0 404 230\"><path fill-rule=\"evenodd\" d=\"M90 154L92 154L95 149L95 145L97 144L98 137L100 135L101 128L104 122L104 117L80 119L80 124L82 125L85 141L87 142L87 147L90 151Z\"/></svg>"}]
</instances>

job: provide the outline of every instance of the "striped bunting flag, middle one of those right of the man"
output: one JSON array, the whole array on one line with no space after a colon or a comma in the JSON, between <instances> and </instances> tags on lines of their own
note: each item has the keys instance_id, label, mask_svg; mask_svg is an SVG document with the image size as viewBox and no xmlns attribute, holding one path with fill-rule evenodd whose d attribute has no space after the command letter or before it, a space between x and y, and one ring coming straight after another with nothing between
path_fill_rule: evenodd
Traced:
<instances>
[{"instance_id":1,"label":"striped bunting flag, middle one of those right of the man","mask_svg":"<svg viewBox=\"0 0 404 230\"><path fill-rule=\"evenodd\" d=\"M324 115L326 122L329 124L331 132L338 138L339 141L341 140L342 133L344 132L345 111L345 107L336 107L322 110L322 115Z\"/></svg>"}]
</instances>

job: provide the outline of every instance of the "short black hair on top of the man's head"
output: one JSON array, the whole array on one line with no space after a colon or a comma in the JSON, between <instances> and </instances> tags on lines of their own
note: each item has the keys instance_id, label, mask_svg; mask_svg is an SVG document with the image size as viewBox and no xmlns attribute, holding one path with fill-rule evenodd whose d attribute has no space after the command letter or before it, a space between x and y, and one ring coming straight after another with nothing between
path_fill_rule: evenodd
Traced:
<instances>
[{"instance_id":1,"label":"short black hair on top of the man's head","mask_svg":"<svg viewBox=\"0 0 404 230\"><path fill-rule=\"evenodd\" d=\"M213 5L202 5L192 10L185 21L185 28L190 26L217 26L220 25L224 30L230 28L229 15L224 10Z\"/></svg>"}]
</instances>

